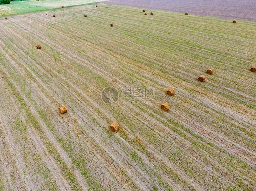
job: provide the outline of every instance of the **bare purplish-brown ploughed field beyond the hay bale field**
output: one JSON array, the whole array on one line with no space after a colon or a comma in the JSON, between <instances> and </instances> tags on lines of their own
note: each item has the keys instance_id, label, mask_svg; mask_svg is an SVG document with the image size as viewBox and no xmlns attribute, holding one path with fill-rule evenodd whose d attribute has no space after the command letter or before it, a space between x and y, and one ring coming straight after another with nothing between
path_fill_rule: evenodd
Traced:
<instances>
[{"instance_id":1,"label":"bare purplish-brown ploughed field beyond the hay bale field","mask_svg":"<svg viewBox=\"0 0 256 191\"><path fill-rule=\"evenodd\" d=\"M104 3L256 21L255 0L109 0Z\"/></svg>"}]
</instances>

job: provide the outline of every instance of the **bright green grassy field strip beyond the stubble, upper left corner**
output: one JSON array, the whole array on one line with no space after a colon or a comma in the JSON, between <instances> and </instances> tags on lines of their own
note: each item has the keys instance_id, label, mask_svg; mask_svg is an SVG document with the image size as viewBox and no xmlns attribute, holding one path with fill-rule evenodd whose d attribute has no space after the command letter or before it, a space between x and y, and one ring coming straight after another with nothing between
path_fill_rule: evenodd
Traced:
<instances>
[{"instance_id":1,"label":"bright green grassy field strip beyond the stubble, upper left corner","mask_svg":"<svg viewBox=\"0 0 256 191\"><path fill-rule=\"evenodd\" d=\"M8 14L31 13L44 10L54 10L61 6L74 6L90 4L102 0L29 0L29 1L12 1L10 4L0 5L0 16ZM9 10L6 8L8 7Z\"/></svg>"}]
</instances>

